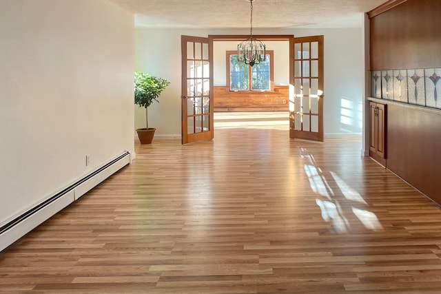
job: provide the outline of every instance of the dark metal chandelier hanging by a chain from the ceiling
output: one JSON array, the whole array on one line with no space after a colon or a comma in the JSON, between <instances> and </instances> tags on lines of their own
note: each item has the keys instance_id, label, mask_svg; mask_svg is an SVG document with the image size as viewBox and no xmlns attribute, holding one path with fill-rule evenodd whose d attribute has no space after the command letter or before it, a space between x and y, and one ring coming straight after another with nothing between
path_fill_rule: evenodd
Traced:
<instances>
[{"instance_id":1,"label":"dark metal chandelier hanging by a chain from the ceiling","mask_svg":"<svg viewBox=\"0 0 441 294\"><path fill-rule=\"evenodd\" d=\"M249 66L265 61L267 57L267 49L265 44L258 39L253 38L253 1L248 0L251 6L251 18L249 28L249 39L237 45L237 60L243 61Z\"/></svg>"}]
</instances>

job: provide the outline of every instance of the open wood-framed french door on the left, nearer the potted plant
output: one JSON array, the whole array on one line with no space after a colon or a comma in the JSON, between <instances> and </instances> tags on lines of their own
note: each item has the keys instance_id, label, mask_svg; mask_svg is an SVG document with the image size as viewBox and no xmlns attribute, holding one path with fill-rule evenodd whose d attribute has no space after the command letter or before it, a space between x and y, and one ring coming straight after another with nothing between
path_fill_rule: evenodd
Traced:
<instances>
[{"instance_id":1,"label":"open wood-framed french door on the left, nearer the potted plant","mask_svg":"<svg viewBox=\"0 0 441 294\"><path fill-rule=\"evenodd\" d=\"M214 138L212 46L208 38L181 36L182 143Z\"/></svg>"}]
</instances>

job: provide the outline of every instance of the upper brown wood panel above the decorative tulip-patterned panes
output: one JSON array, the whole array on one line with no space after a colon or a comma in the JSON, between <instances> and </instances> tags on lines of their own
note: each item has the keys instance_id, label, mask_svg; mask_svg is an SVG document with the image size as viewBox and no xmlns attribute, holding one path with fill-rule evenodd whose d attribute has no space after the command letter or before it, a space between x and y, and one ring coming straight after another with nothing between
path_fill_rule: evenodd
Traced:
<instances>
[{"instance_id":1,"label":"upper brown wood panel above the decorative tulip-patterned panes","mask_svg":"<svg viewBox=\"0 0 441 294\"><path fill-rule=\"evenodd\" d=\"M407 0L371 18L371 70L441 67L440 15L440 0Z\"/></svg>"}]
</instances>

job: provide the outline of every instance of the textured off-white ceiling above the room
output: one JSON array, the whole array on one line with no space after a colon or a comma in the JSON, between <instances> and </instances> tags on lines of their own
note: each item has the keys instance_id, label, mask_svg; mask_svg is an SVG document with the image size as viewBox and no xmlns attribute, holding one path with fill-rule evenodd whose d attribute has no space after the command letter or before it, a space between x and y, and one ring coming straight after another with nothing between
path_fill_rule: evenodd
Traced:
<instances>
[{"instance_id":1,"label":"textured off-white ceiling above the room","mask_svg":"<svg viewBox=\"0 0 441 294\"><path fill-rule=\"evenodd\" d=\"M247 0L110 0L136 28L249 28ZM358 28L387 0L254 0L254 28Z\"/></svg>"}]
</instances>

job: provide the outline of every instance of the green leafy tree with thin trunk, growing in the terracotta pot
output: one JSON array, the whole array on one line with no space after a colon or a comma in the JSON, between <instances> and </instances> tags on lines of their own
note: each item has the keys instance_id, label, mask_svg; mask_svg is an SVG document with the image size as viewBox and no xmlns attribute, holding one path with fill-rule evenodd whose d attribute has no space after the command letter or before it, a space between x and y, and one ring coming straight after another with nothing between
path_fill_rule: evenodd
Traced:
<instances>
[{"instance_id":1,"label":"green leafy tree with thin trunk, growing in the terracotta pot","mask_svg":"<svg viewBox=\"0 0 441 294\"><path fill-rule=\"evenodd\" d=\"M147 108L158 98L167 87L170 81L167 78L158 78L145 72L135 72L134 74L134 92L135 104L145 108L145 126L149 128Z\"/></svg>"}]
</instances>

